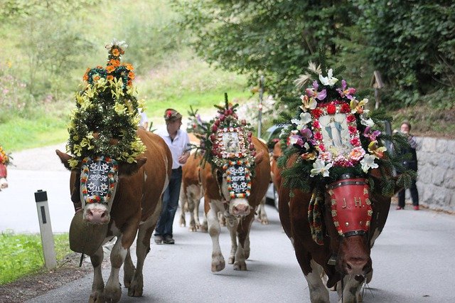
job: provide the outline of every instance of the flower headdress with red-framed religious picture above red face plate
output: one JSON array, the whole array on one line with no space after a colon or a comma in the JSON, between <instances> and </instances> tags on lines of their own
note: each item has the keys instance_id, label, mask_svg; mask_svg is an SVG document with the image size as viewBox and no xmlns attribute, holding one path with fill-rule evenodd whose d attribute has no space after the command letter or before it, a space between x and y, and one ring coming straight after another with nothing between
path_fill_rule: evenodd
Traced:
<instances>
[{"instance_id":1,"label":"flower headdress with red-framed religious picture above red face plate","mask_svg":"<svg viewBox=\"0 0 455 303\"><path fill-rule=\"evenodd\" d=\"M310 68L309 75L296 81L302 85L316 78L301 96L283 99L296 110L296 115L285 112L278 121L289 125L281 136L286 150L279 166L284 168L291 156L299 155L294 166L283 171L285 186L311 191L314 186L325 186L343 174L352 174L369 178L373 187L370 171L379 169L382 193L390 195L395 188L391 176L394 167L404 171L398 185L409 185L415 175L405 171L399 159L385 147L386 140L397 149L407 144L402 138L384 132L383 124L391 118L382 111L365 109L368 99L341 78L344 67L326 70L323 55L320 60L321 70Z\"/></svg>"}]
</instances>

